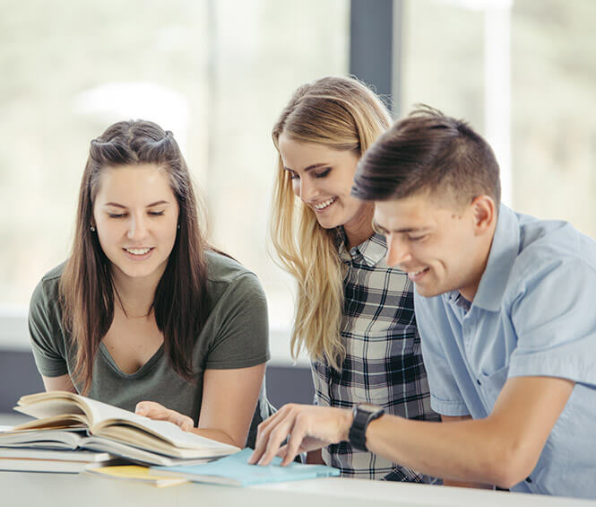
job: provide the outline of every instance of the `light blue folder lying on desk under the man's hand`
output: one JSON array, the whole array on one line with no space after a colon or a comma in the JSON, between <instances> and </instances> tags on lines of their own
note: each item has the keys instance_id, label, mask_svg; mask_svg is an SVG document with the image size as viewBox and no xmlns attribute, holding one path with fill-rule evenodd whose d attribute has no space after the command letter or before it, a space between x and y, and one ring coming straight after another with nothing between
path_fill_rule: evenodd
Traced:
<instances>
[{"instance_id":1,"label":"light blue folder lying on desk under the man's hand","mask_svg":"<svg viewBox=\"0 0 596 507\"><path fill-rule=\"evenodd\" d=\"M314 479L315 477L339 476L340 470L324 465L302 465L292 462L281 467L281 458L275 457L271 465L261 467L246 461L252 450L245 449L202 465L178 465L176 467L151 467L150 473L160 476L184 477L189 481L221 485L257 485Z\"/></svg>"}]
</instances>

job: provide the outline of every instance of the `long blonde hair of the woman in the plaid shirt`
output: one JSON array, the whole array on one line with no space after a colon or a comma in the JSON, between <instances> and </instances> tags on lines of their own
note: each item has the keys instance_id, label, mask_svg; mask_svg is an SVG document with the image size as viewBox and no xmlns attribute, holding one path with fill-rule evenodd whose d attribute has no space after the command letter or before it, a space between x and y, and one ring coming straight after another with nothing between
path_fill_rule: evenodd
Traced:
<instances>
[{"instance_id":1,"label":"long blonde hair of the woman in the plaid shirt","mask_svg":"<svg viewBox=\"0 0 596 507\"><path fill-rule=\"evenodd\" d=\"M356 79L324 77L300 86L273 127L279 153L283 133L302 143L364 153L390 127L382 101ZM298 233L297 233L298 232ZM275 178L271 236L281 267L298 282L298 298L290 341L292 357L306 348L311 359L341 369L343 273L335 229L324 229L315 213L294 195L281 155Z\"/></svg>"}]
</instances>

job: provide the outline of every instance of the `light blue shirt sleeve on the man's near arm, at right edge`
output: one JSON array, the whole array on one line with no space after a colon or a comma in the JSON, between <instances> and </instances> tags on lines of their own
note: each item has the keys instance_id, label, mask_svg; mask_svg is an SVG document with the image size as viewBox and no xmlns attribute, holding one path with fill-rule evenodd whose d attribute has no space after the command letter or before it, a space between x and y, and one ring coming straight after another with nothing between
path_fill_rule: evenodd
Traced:
<instances>
[{"instance_id":1,"label":"light blue shirt sleeve on the man's near arm, at right edge","mask_svg":"<svg viewBox=\"0 0 596 507\"><path fill-rule=\"evenodd\" d=\"M511 307L517 346L508 376L596 385L596 273L581 259L569 259L521 278Z\"/></svg>"}]
</instances>

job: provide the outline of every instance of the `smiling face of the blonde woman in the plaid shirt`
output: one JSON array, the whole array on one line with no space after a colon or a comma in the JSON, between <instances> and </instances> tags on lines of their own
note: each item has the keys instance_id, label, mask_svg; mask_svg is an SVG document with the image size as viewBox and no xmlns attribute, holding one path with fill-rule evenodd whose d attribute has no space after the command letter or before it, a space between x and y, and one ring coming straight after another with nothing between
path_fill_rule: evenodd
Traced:
<instances>
[{"instance_id":1,"label":"smiling face of the blonde woman in the plaid shirt","mask_svg":"<svg viewBox=\"0 0 596 507\"><path fill-rule=\"evenodd\" d=\"M301 143L285 134L280 135L278 146L294 193L315 212L321 227L358 228L366 215L364 224L370 228L370 216L365 211L369 205L350 196L359 160L356 153Z\"/></svg>"}]
</instances>

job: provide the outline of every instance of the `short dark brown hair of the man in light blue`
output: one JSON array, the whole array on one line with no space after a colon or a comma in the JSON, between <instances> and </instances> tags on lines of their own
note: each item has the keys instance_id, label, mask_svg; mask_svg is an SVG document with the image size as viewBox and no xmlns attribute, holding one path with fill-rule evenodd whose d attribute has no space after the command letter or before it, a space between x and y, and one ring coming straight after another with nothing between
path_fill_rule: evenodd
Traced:
<instances>
[{"instance_id":1,"label":"short dark brown hair of the man in light blue","mask_svg":"<svg viewBox=\"0 0 596 507\"><path fill-rule=\"evenodd\" d=\"M364 153L351 193L360 199L382 201L445 190L459 203L488 195L498 206L497 159L467 123L419 105Z\"/></svg>"}]
</instances>

